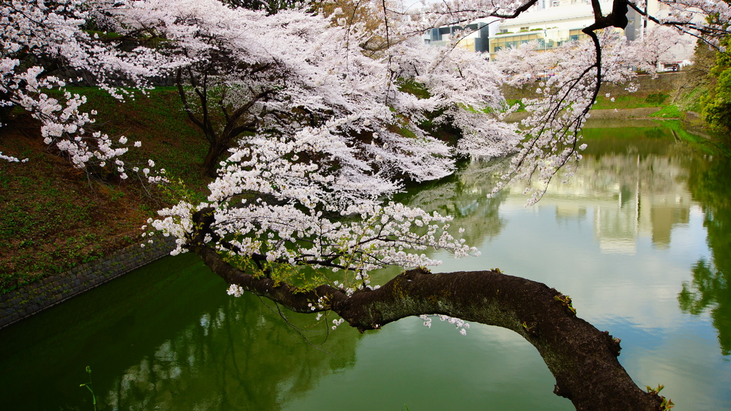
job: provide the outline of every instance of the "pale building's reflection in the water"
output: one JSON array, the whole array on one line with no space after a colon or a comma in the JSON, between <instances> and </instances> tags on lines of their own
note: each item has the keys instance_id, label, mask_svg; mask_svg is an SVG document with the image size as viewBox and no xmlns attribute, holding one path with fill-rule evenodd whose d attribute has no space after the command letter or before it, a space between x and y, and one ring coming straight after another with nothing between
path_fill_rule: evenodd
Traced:
<instances>
[{"instance_id":1,"label":"pale building's reflection in the water","mask_svg":"<svg viewBox=\"0 0 731 411\"><path fill-rule=\"evenodd\" d=\"M638 236L667 248L673 227L687 224L691 195L677 160L650 155L586 156L565 184L552 184L541 200L556 219L586 218L594 208L594 235L602 252L634 254ZM540 203L539 203L540 204Z\"/></svg>"}]
</instances>

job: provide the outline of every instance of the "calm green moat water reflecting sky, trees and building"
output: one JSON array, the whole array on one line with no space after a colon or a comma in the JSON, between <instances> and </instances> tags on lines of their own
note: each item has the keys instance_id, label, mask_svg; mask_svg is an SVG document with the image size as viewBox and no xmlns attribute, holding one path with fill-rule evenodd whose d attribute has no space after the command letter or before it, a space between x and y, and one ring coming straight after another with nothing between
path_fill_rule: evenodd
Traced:
<instances>
[{"instance_id":1,"label":"calm green moat water reflecting sky, trees and building","mask_svg":"<svg viewBox=\"0 0 731 411\"><path fill-rule=\"evenodd\" d=\"M587 129L575 176L531 208L520 186L485 197L500 166L480 163L405 200L454 215L482 251L435 253L433 271L498 267L556 287L622 339L639 385L665 385L677 410L731 410L730 159L635 125ZM573 409L512 331L409 318L313 347L276 306L226 287L195 255L166 257L0 330L0 408L93 410L79 387L91 366L98 410ZM287 316L325 339L311 317Z\"/></svg>"}]
</instances>

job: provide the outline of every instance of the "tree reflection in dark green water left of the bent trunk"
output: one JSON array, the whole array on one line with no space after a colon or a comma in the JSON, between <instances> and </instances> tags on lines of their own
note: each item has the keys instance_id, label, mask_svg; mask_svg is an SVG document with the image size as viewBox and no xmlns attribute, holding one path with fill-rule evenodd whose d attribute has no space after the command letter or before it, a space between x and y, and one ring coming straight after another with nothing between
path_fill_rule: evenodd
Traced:
<instances>
[{"instance_id":1,"label":"tree reflection in dark green water left of the bent trunk","mask_svg":"<svg viewBox=\"0 0 731 411\"><path fill-rule=\"evenodd\" d=\"M324 329L311 339L321 342ZM130 410L279 410L321 377L355 363L358 338L349 331L330 335L322 352L253 295L228 298L151 347L103 401Z\"/></svg>"}]
</instances>

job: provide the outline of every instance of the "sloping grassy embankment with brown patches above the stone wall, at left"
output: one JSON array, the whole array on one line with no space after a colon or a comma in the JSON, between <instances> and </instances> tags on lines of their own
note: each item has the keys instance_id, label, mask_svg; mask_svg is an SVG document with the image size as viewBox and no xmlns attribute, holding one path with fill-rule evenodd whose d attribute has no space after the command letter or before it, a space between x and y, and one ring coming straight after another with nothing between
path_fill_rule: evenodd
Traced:
<instances>
[{"instance_id":1,"label":"sloping grassy embankment with brown patches above the stone wall, at left","mask_svg":"<svg viewBox=\"0 0 731 411\"><path fill-rule=\"evenodd\" d=\"M84 109L99 112L94 129L143 143L126 160L154 159L168 176L203 192L207 143L181 111L175 90L160 88L125 103L93 88L72 91L88 97ZM111 174L106 184L88 180L48 151L38 122L22 110L0 128L0 151L29 158L0 162L0 293L136 243L144 221L171 202L162 190L148 193Z\"/></svg>"}]
</instances>

